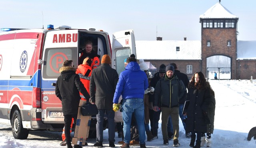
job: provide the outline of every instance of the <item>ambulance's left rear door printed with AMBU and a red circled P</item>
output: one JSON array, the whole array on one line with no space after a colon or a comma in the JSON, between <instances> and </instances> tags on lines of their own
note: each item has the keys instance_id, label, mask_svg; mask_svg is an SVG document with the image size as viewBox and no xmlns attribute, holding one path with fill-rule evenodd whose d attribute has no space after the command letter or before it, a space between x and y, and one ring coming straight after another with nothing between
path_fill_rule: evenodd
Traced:
<instances>
[{"instance_id":1,"label":"ambulance's left rear door printed with AMBU and a red circled P","mask_svg":"<svg viewBox=\"0 0 256 148\"><path fill-rule=\"evenodd\" d=\"M53 30L46 32L44 39L42 64L42 122L64 123L62 104L55 95L55 86L59 69L64 60L78 63L78 30Z\"/></svg>"}]
</instances>

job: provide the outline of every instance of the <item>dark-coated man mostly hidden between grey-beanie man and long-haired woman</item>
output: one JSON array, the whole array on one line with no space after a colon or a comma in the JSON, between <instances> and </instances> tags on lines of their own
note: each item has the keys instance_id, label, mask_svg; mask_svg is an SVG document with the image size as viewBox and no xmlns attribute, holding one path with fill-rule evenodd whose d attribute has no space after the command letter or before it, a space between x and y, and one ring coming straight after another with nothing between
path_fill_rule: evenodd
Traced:
<instances>
[{"instance_id":1,"label":"dark-coated man mostly hidden between grey-beanie man and long-haired woman","mask_svg":"<svg viewBox=\"0 0 256 148\"><path fill-rule=\"evenodd\" d=\"M171 63L171 65L174 66L174 74L178 77L179 80L182 80L182 82L187 90L188 83L189 83L188 76L186 74L180 72L180 70L178 70L178 67L175 63ZM185 131L186 131L186 123L184 121L186 121L186 117L184 115L182 115L182 110L184 107L184 103L186 101L186 97L187 97L187 92L185 92L183 97L181 97L179 100L179 115L180 115L180 119L182 121ZM186 138L190 138L190 135L191 135L190 132L186 131Z\"/></svg>"}]
</instances>

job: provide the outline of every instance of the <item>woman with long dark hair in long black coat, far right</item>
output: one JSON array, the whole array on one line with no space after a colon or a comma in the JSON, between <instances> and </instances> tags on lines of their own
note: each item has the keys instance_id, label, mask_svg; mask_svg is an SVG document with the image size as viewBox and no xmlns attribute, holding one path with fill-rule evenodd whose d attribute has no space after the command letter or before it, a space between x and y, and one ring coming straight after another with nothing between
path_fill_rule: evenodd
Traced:
<instances>
[{"instance_id":1,"label":"woman with long dark hair in long black coat, far right","mask_svg":"<svg viewBox=\"0 0 256 148\"><path fill-rule=\"evenodd\" d=\"M188 84L187 99L190 100L188 108L185 110L186 129L191 132L190 146L200 148L201 135L206 132L207 109L210 104L212 88L206 82L202 72L196 72ZM196 136L197 134L197 136ZM194 142L196 140L196 145Z\"/></svg>"}]
</instances>

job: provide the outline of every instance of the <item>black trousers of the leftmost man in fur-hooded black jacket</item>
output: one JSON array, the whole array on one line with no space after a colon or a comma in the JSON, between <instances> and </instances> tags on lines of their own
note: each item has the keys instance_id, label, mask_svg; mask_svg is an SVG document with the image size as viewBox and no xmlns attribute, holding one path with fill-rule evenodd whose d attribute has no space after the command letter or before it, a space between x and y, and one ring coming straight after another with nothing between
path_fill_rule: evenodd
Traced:
<instances>
[{"instance_id":1,"label":"black trousers of the leftmost man in fur-hooded black jacket","mask_svg":"<svg viewBox=\"0 0 256 148\"><path fill-rule=\"evenodd\" d=\"M74 118L74 129L76 129L76 119L77 119L77 114L76 115L64 115L64 132L66 136L66 142L67 144L71 144L71 136L70 136L70 125L72 122L72 118Z\"/></svg>"}]
</instances>

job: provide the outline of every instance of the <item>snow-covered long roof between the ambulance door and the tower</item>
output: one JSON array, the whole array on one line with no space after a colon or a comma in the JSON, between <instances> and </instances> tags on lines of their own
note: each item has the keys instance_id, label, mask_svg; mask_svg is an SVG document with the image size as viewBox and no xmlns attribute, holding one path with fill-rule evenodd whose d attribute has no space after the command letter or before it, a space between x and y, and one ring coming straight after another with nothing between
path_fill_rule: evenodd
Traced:
<instances>
[{"instance_id":1,"label":"snow-covered long roof between the ambulance door and the tower","mask_svg":"<svg viewBox=\"0 0 256 148\"><path fill-rule=\"evenodd\" d=\"M176 51L180 47L180 51ZM136 41L136 57L144 60L201 60L201 41Z\"/></svg>"}]
</instances>

